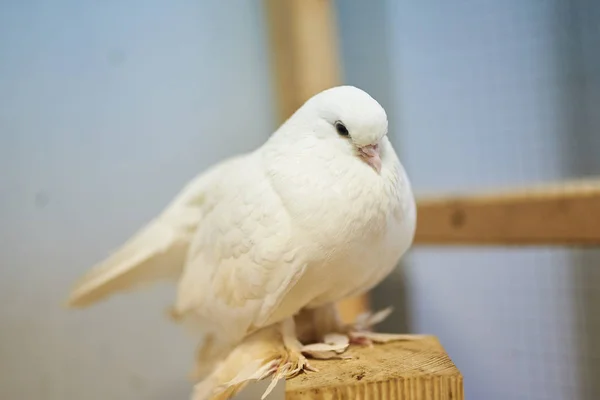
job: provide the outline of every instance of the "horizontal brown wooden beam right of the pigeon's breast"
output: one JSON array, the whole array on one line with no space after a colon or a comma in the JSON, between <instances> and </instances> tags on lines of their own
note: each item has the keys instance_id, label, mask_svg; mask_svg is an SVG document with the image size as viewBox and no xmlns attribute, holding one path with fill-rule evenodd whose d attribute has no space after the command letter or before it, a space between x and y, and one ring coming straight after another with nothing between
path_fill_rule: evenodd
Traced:
<instances>
[{"instance_id":1,"label":"horizontal brown wooden beam right of the pigeon's breast","mask_svg":"<svg viewBox=\"0 0 600 400\"><path fill-rule=\"evenodd\" d=\"M600 179L417 203L417 245L600 245Z\"/></svg>"}]
</instances>

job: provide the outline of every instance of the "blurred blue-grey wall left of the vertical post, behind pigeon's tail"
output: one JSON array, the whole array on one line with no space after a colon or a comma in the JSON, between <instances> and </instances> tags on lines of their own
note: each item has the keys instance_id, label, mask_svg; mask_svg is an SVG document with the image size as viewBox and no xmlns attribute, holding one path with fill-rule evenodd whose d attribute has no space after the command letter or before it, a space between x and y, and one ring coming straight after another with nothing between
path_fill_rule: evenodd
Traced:
<instances>
[{"instance_id":1,"label":"blurred blue-grey wall left of the vertical post, behind pigeon's tail","mask_svg":"<svg viewBox=\"0 0 600 400\"><path fill-rule=\"evenodd\" d=\"M85 312L73 281L274 128L252 1L0 2L0 398L187 398L172 288Z\"/></svg>"}]
</instances>

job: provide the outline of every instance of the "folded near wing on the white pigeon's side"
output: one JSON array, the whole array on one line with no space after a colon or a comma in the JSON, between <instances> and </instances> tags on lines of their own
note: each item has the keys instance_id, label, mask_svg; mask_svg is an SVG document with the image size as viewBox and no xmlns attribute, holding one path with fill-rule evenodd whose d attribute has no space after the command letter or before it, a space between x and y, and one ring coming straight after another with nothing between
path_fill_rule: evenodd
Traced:
<instances>
[{"instance_id":1,"label":"folded near wing on the white pigeon's side","mask_svg":"<svg viewBox=\"0 0 600 400\"><path fill-rule=\"evenodd\" d=\"M264 324L305 269L286 207L252 160L207 192L174 306L222 341Z\"/></svg>"}]
</instances>

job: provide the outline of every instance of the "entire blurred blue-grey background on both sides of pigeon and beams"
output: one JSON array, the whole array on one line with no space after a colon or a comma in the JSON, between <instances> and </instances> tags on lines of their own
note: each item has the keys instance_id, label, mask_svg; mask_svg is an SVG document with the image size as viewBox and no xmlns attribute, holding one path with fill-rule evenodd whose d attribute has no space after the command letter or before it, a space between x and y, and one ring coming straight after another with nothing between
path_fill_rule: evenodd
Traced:
<instances>
[{"instance_id":1,"label":"entire blurred blue-grey background on both sides of pigeon and beams","mask_svg":"<svg viewBox=\"0 0 600 400\"><path fill-rule=\"evenodd\" d=\"M417 194L600 174L600 2L337 1L343 82ZM0 398L187 398L173 287L62 308L210 164L277 127L259 1L0 2ZM600 398L600 253L415 248L372 294L469 399ZM255 398L256 394L246 394Z\"/></svg>"}]
</instances>

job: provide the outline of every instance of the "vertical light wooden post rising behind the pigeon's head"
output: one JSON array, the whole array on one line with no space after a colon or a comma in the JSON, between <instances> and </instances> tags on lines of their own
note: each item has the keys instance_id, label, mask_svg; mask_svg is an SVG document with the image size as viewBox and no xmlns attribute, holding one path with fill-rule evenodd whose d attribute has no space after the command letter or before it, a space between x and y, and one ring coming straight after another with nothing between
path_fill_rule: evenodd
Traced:
<instances>
[{"instance_id":1,"label":"vertical light wooden post rising behind the pigeon's head","mask_svg":"<svg viewBox=\"0 0 600 400\"><path fill-rule=\"evenodd\" d=\"M313 95L341 83L332 0L265 0L279 123ZM339 305L345 322L368 310L366 296Z\"/></svg>"}]
</instances>

